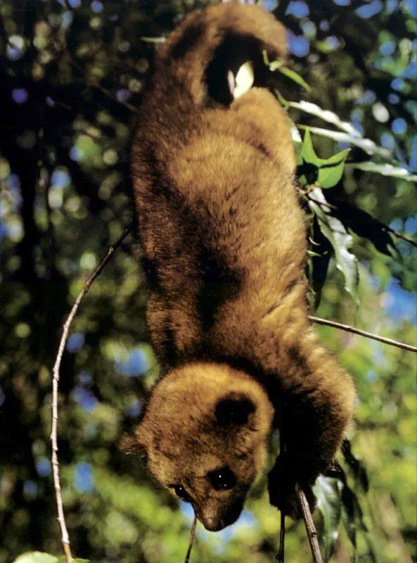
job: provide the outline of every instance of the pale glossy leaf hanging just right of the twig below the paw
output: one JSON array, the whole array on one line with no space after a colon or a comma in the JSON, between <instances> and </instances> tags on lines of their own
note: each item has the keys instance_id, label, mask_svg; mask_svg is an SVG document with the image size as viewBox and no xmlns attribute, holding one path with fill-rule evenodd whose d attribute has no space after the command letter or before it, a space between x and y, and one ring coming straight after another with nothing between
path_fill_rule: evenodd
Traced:
<instances>
[{"instance_id":1,"label":"pale glossy leaf hanging just right of the twig below the paw","mask_svg":"<svg viewBox=\"0 0 417 563\"><path fill-rule=\"evenodd\" d=\"M317 507L323 516L324 562L330 561L335 542L338 539L339 524L342 517L342 483L334 477L319 476L314 485Z\"/></svg>"}]
</instances>

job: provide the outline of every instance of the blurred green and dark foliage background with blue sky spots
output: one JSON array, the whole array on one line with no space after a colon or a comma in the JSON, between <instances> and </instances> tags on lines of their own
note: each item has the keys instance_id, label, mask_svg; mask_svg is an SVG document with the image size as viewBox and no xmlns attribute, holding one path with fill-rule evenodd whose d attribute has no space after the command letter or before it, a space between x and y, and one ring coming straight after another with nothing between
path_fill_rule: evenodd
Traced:
<instances>
[{"instance_id":1,"label":"blurred green and dark foliage background with blue sky spots","mask_svg":"<svg viewBox=\"0 0 417 563\"><path fill-rule=\"evenodd\" d=\"M129 141L155 50L143 38L162 37L204 4L0 2L0 563L26 550L60 552L49 431L61 327L84 280L133 217ZM287 84L290 99L333 110L385 147L388 160L415 169L413 1L265 4L288 27L291 68L312 87L306 94ZM332 129L289 112L298 125ZM317 135L313 141L323 158L345 148ZM349 155L356 163L368 158L358 147ZM415 239L416 186L347 165L326 198L353 236L360 305L344 291L331 248L313 224L317 315L415 344L416 247L371 216ZM103 563L179 562L191 527L187 505L160 491L140 460L117 447L158 374L137 252L127 241L85 298L60 381L59 454L72 548ZM350 437L370 481L366 492L363 472L355 478L347 471L363 517L345 511L332 560L347 562L355 551L359 562L417 561L416 356L334 329L321 334L357 381ZM325 524L317 514L319 531ZM271 561L278 531L278 513L259 486L237 524L217 534L198 531L193 561ZM300 524L288 523L286 552L288 562L308 559Z\"/></svg>"}]
</instances>

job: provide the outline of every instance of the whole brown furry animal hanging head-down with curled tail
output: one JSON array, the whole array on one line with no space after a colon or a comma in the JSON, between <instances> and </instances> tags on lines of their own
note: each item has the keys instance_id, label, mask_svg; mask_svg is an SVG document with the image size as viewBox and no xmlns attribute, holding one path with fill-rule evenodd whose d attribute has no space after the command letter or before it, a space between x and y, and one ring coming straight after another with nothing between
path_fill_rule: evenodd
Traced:
<instances>
[{"instance_id":1,"label":"whole brown furry animal hanging head-down with curled tail","mask_svg":"<svg viewBox=\"0 0 417 563\"><path fill-rule=\"evenodd\" d=\"M236 520L278 426L285 463L271 502L290 512L331 464L354 386L306 310L306 232L288 120L269 91L233 100L249 59L285 57L285 31L255 6L195 11L160 49L131 172L164 374L125 448L192 503L208 530ZM233 75L231 75L231 72Z\"/></svg>"}]
</instances>

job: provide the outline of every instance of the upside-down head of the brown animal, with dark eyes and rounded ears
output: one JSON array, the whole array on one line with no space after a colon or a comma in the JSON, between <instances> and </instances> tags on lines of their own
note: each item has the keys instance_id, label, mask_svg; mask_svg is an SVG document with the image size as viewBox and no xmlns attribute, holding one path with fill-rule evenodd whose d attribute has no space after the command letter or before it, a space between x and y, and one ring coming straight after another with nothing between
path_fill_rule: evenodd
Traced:
<instances>
[{"instance_id":1,"label":"upside-down head of the brown animal, with dark eyes and rounded ears","mask_svg":"<svg viewBox=\"0 0 417 563\"><path fill-rule=\"evenodd\" d=\"M228 365L195 363L155 386L128 453L174 495L191 502L209 531L238 519L262 471L274 408L262 386Z\"/></svg>"}]
</instances>

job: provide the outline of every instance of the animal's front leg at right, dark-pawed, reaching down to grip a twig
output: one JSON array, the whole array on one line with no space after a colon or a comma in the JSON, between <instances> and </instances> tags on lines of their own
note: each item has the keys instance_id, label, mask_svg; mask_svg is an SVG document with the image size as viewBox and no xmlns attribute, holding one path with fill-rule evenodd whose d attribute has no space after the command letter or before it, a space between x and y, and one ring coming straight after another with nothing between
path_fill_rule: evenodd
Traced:
<instances>
[{"instance_id":1,"label":"animal's front leg at right, dark-pawed, reaching down to grip a twig","mask_svg":"<svg viewBox=\"0 0 417 563\"><path fill-rule=\"evenodd\" d=\"M284 451L269 474L271 503L297 516L295 483L314 505L311 487L331 467L352 417L355 391L352 378L316 341L304 335L288 351L280 431Z\"/></svg>"}]
</instances>

